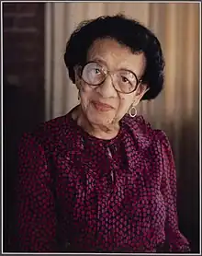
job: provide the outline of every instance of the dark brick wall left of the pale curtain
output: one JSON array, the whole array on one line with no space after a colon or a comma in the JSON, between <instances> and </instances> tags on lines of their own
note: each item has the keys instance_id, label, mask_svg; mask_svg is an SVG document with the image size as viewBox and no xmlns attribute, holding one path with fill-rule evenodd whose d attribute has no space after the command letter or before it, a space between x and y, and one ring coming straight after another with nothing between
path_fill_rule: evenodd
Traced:
<instances>
[{"instance_id":1,"label":"dark brick wall left of the pale curtain","mask_svg":"<svg viewBox=\"0 0 202 256\"><path fill-rule=\"evenodd\" d=\"M44 121L44 4L3 4L4 251L16 251L17 145Z\"/></svg>"}]
</instances>

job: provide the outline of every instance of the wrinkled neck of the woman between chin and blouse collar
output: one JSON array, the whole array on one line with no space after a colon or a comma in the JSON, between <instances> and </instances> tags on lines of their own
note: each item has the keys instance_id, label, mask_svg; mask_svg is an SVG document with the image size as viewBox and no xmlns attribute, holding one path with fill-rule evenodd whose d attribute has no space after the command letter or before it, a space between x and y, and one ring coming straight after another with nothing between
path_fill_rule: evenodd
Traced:
<instances>
[{"instance_id":1,"label":"wrinkled neck of the woman between chin and blouse collar","mask_svg":"<svg viewBox=\"0 0 202 256\"><path fill-rule=\"evenodd\" d=\"M110 125L96 125L88 121L81 107L78 106L72 113L73 120L84 129L84 131L99 139L110 140L118 135L119 123Z\"/></svg>"}]
</instances>

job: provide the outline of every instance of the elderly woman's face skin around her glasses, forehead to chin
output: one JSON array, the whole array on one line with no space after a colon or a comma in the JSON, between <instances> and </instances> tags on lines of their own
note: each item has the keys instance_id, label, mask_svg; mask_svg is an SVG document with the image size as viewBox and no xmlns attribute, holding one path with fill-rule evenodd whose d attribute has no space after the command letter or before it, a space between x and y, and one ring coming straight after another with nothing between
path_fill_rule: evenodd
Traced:
<instances>
[{"instance_id":1,"label":"elderly woman's face skin around her glasses, forehead to chin","mask_svg":"<svg viewBox=\"0 0 202 256\"><path fill-rule=\"evenodd\" d=\"M112 73L118 70L129 70L135 73L138 79L144 74L146 66L143 53L132 53L128 47L112 39L95 41L88 51L87 62L96 62ZM113 87L111 76L107 76L98 87L84 82L78 76L76 69L75 77L84 115L95 125L117 124L129 111L132 103L137 105L147 90L146 85L139 84L136 91L123 94Z\"/></svg>"}]
</instances>

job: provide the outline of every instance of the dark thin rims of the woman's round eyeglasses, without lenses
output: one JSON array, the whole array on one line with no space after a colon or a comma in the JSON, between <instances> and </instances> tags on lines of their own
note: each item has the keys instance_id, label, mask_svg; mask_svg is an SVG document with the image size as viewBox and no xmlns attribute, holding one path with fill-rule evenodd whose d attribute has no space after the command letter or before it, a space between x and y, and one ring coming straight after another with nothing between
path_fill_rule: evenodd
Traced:
<instances>
[{"instance_id":1,"label":"dark thin rims of the woman's round eyeglasses, without lenses","mask_svg":"<svg viewBox=\"0 0 202 256\"><path fill-rule=\"evenodd\" d=\"M130 72L133 76L135 76L136 81L137 81L137 86L136 86L132 91L130 91L130 92L123 92L123 91L119 91L119 90L115 87L115 85L114 85L114 83L113 83L113 78L112 78L111 74L112 74L112 73L115 73L115 72L117 72L117 71L110 71L110 70L107 70L107 73L105 73L106 77L105 77L105 79L104 79L100 84L97 84L97 85L89 84L89 83L87 83L87 82L84 80L84 78L83 78L83 72L84 72L84 67L85 67L87 64L91 64L91 63L93 63L93 64L98 64L97 62L91 61L91 62L87 62L87 63L84 64L84 65L80 65L80 67L82 67L82 69L81 69L80 75L79 75L80 78L82 78L82 80L84 81L84 83L88 84L88 85L91 86L91 87L100 87L100 86L105 82L105 80L107 79L107 76L108 76L108 75L111 77L112 85L113 85L113 87L115 88L115 90L116 90L117 92L123 93L123 94L130 94L130 93L136 91L137 87L140 85L140 83L142 83L142 80L143 80L143 79L142 79L142 78L139 79L139 78L137 77L137 75L136 75L133 71L131 71L131 70L129 70L129 69L120 69L120 70L128 71L128 72ZM100 65L100 64L98 64L98 65ZM100 65L100 66L101 66L101 65Z\"/></svg>"}]
</instances>

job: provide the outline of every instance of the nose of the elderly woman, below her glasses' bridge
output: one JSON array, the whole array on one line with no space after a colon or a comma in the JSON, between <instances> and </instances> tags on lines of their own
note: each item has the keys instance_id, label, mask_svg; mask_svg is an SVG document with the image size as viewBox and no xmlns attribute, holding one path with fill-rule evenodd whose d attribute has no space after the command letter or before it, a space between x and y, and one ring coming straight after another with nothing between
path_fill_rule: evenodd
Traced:
<instances>
[{"instance_id":1,"label":"nose of the elderly woman, below her glasses' bridge","mask_svg":"<svg viewBox=\"0 0 202 256\"><path fill-rule=\"evenodd\" d=\"M115 98L117 97L117 91L113 86L113 80L111 76L107 76L104 82L97 87L97 92L99 92L103 98Z\"/></svg>"}]
</instances>

